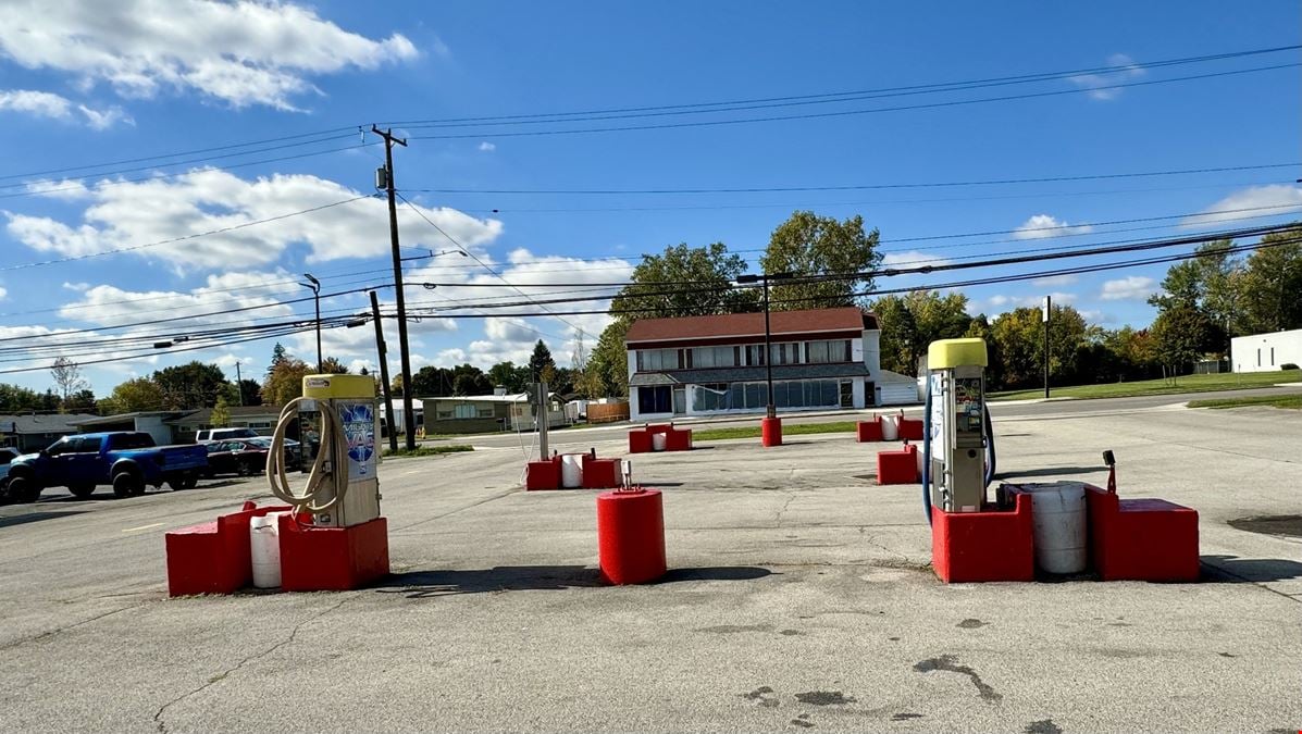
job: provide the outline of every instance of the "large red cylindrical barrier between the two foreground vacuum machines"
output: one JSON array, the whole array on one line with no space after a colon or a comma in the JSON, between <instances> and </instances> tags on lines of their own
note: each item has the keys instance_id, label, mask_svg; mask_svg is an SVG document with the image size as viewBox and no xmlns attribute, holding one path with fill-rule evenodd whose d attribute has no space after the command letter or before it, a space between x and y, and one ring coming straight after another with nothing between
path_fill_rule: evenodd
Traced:
<instances>
[{"instance_id":1,"label":"large red cylindrical barrier between the two foreground vacuum machines","mask_svg":"<svg viewBox=\"0 0 1302 734\"><path fill-rule=\"evenodd\" d=\"M647 583L663 577L667 566L660 491L598 495L596 544L607 583Z\"/></svg>"}]
</instances>

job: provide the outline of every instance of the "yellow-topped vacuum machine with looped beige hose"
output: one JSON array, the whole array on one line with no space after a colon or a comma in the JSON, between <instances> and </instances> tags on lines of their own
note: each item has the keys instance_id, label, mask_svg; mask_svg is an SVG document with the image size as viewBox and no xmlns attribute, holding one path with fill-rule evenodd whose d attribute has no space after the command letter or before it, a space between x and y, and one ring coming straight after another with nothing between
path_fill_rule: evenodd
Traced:
<instances>
[{"instance_id":1,"label":"yellow-topped vacuum machine with looped beige hose","mask_svg":"<svg viewBox=\"0 0 1302 734\"><path fill-rule=\"evenodd\" d=\"M285 429L299 410L320 413L320 449L302 495L285 475ZM380 517L380 482L376 475L379 411L375 381L366 375L307 375L303 397L280 413L267 455L267 482L296 513L311 513L316 527L352 527Z\"/></svg>"}]
</instances>

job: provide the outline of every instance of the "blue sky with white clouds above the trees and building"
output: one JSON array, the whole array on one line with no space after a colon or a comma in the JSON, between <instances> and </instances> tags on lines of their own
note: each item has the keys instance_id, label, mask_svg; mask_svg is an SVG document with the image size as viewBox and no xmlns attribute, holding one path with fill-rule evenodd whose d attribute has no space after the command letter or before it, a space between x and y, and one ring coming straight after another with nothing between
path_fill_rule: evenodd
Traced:
<instances>
[{"instance_id":1,"label":"blue sky with white clouds above the trees and building","mask_svg":"<svg viewBox=\"0 0 1302 734\"><path fill-rule=\"evenodd\" d=\"M187 353L151 350L150 342L190 336L190 345L203 346L203 329L310 316L311 303L301 301L310 293L297 282L303 272L319 277L326 294L381 286L389 260L380 200L240 226L371 194L383 148L362 147L375 138L357 126L374 121L694 104L1122 68L1105 77L727 115L443 129L397 124L397 133L413 138L396 152L398 187L413 203L400 206L402 241L410 247L405 254L454 247L413 211L419 210L479 260L450 254L409 262L410 281L444 284L410 288L408 299L417 307L518 299L505 282L535 298L573 292L572 284L617 282L639 254L678 242L721 241L754 260L769 232L797 208L863 215L880 229L889 263L1282 221L1302 208L1302 189L1294 184L1302 176L1295 165L1302 72L1290 66L1146 82L1295 64L1302 53L1142 65L1290 46L1299 43L1298 29L1302 7L1285 1L1254 4L1251 13L1224 3L952 4L928 13L862 3L405 3L383 13L344 3L9 3L0 9L0 121L7 130L0 173L8 176L0 181L7 254L0 265L0 370L30 371L0 380L51 387L44 366L59 354L112 359L85 368L98 394L193 358L215 360L232 377L237 362L245 376L260 376L271 341ZM1116 83L1141 86L1099 88ZM1072 92L827 118L503 135L1053 91ZM327 130L333 133L158 157ZM335 152L267 161L320 151ZM142 160L115 163L132 159ZM427 191L832 187L1281 163L1294 165L927 189ZM85 168L96 164L109 165ZM229 165L234 168L220 168ZM1176 216L1225 210L1247 211L1202 220ZM1086 226L1144 217L1170 219ZM1253 219L1216 221L1228 217ZM240 228L203 234L229 226ZM1144 229L1133 229L1138 226ZM918 239L980 232L1005 234ZM1034 237L1047 234L1069 237ZM190 238L159 243L182 237ZM111 250L125 251L104 254ZM38 264L49 260L66 262ZM1031 269L1040 268L1000 272ZM973 312L993 315L1052 293L1105 327L1146 325L1152 310L1144 298L1164 271L1148 265L965 293ZM988 275L995 273L945 277ZM879 279L878 285L940 279ZM392 289L379 293L385 305L392 301ZM322 303L327 314L366 306L365 293ZM185 319L232 308L242 310ZM172 320L130 325L158 319ZM591 346L604 323L599 315L427 315L411 325L413 359L415 367L465 360L488 367L526 359L542 337L565 364L575 336L582 332ZM396 329L388 325L396 371ZM69 333L59 336L64 331ZM137 341L115 341L124 336ZM281 341L298 357L315 358L310 333ZM329 329L326 351L354 367L375 366L370 328Z\"/></svg>"}]
</instances>

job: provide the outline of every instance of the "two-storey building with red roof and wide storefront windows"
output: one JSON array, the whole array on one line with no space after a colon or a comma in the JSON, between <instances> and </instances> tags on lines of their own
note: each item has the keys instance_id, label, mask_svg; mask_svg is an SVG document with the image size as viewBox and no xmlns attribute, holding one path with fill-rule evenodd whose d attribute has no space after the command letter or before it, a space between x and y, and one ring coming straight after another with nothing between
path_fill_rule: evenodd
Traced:
<instances>
[{"instance_id":1,"label":"two-storey building with red roof and wide storefront windows","mask_svg":"<svg viewBox=\"0 0 1302 734\"><path fill-rule=\"evenodd\" d=\"M779 410L917 402L913 377L881 368L876 316L855 307L775 311L768 358ZM625 337L630 419L760 413L764 315L641 319Z\"/></svg>"}]
</instances>

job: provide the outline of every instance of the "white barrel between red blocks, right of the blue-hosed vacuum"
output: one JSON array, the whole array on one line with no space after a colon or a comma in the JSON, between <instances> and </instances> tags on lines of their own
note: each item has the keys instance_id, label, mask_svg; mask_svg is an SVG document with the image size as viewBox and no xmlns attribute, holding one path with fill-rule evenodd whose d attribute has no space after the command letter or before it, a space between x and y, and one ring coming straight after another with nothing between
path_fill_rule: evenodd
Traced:
<instances>
[{"instance_id":1,"label":"white barrel between red blocks, right of the blue-hosed vacuum","mask_svg":"<svg viewBox=\"0 0 1302 734\"><path fill-rule=\"evenodd\" d=\"M1035 565L1051 574L1078 574L1088 561L1085 484L1053 482L1022 484L1031 493Z\"/></svg>"}]
</instances>

